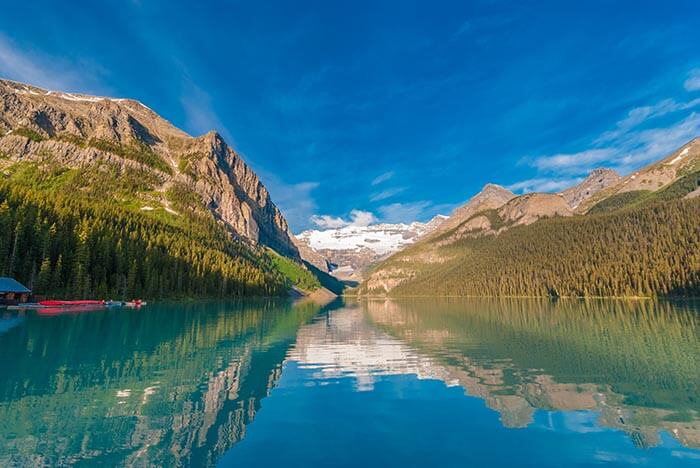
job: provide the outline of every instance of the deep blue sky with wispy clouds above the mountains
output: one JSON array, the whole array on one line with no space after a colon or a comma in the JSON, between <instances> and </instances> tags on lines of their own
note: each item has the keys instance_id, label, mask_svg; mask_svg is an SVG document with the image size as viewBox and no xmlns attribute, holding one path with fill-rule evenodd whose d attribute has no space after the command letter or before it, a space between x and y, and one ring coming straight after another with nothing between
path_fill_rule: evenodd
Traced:
<instances>
[{"instance_id":1,"label":"deep blue sky with wispy clouds above the mountains","mask_svg":"<svg viewBox=\"0 0 700 468\"><path fill-rule=\"evenodd\" d=\"M700 135L698 18L692 0L11 2L0 76L217 129L298 232L663 156Z\"/></svg>"}]
</instances>

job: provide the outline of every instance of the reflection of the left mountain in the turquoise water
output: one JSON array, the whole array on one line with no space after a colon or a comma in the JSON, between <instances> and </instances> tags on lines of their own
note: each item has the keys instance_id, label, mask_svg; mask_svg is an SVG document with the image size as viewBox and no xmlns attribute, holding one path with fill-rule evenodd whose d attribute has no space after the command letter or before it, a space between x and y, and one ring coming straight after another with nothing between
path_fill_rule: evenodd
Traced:
<instances>
[{"instance_id":1,"label":"reflection of the left mountain in the turquoise water","mask_svg":"<svg viewBox=\"0 0 700 468\"><path fill-rule=\"evenodd\" d=\"M241 440L297 328L280 302L26 317L0 335L0 465L203 466Z\"/></svg>"}]
</instances>

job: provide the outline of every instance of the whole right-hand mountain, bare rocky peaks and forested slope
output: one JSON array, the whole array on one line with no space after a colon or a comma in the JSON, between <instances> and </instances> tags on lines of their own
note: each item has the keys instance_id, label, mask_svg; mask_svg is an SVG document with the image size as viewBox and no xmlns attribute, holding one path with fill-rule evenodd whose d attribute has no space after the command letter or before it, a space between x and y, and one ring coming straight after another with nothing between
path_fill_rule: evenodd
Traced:
<instances>
[{"instance_id":1,"label":"whole right-hand mountain, bare rocky peaks and forested slope","mask_svg":"<svg viewBox=\"0 0 700 468\"><path fill-rule=\"evenodd\" d=\"M558 194L486 197L385 259L361 294L697 296L700 140L620 178ZM505 201L504 201L505 200Z\"/></svg>"}]
</instances>

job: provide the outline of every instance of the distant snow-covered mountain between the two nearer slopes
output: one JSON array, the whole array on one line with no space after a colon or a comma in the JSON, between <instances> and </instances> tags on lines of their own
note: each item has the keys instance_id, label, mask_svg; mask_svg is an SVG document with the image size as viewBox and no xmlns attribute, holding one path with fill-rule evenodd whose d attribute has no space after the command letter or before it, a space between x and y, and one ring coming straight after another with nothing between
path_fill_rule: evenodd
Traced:
<instances>
[{"instance_id":1,"label":"distant snow-covered mountain between the two nearer slopes","mask_svg":"<svg viewBox=\"0 0 700 468\"><path fill-rule=\"evenodd\" d=\"M339 279L358 281L370 265L433 232L445 219L307 230L296 239L302 258Z\"/></svg>"}]
</instances>

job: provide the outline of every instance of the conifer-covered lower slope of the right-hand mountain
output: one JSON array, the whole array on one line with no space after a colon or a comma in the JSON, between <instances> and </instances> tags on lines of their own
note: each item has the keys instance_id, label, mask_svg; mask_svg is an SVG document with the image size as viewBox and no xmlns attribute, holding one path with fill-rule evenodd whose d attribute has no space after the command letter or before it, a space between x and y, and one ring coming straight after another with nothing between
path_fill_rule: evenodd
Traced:
<instances>
[{"instance_id":1,"label":"conifer-covered lower slope of the right-hand mountain","mask_svg":"<svg viewBox=\"0 0 700 468\"><path fill-rule=\"evenodd\" d=\"M416 272L391 295L700 296L700 199L463 238L439 249L444 262L416 263L416 250L382 265Z\"/></svg>"}]
</instances>

